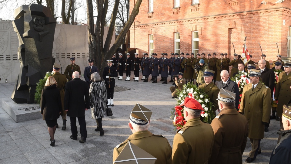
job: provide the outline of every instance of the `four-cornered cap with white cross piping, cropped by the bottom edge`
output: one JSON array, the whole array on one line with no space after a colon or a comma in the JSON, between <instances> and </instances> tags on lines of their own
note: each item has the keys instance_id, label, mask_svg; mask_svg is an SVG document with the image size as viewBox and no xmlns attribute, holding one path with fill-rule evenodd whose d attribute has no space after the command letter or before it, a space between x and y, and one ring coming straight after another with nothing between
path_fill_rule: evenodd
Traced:
<instances>
[{"instance_id":1,"label":"four-cornered cap with white cross piping, cropped by the bottom edge","mask_svg":"<svg viewBox=\"0 0 291 164\"><path fill-rule=\"evenodd\" d=\"M119 153L113 164L155 164L156 158L134 145L131 142L127 142Z\"/></svg>"}]
</instances>

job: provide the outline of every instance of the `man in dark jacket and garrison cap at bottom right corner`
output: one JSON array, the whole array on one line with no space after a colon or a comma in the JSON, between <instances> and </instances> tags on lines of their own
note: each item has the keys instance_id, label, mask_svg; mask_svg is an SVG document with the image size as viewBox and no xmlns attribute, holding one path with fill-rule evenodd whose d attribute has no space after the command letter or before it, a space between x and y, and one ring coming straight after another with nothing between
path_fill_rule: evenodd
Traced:
<instances>
[{"instance_id":1,"label":"man in dark jacket and garrison cap at bottom right corner","mask_svg":"<svg viewBox=\"0 0 291 164\"><path fill-rule=\"evenodd\" d=\"M284 130L277 133L282 136L277 146L273 149L270 164L291 163L291 106L283 106L282 124Z\"/></svg>"}]
</instances>

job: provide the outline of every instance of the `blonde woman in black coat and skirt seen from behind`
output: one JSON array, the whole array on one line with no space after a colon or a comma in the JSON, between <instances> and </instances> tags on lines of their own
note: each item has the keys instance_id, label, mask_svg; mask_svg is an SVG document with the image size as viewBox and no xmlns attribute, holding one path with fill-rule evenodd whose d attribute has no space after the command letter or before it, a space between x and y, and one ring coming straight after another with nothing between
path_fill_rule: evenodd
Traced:
<instances>
[{"instance_id":1,"label":"blonde woman in black coat and skirt seen from behind","mask_svg":"<svg viewBox=\"0 0 291 164\"><path fill-rule=\"evenodd\" d=\"M61 94L57 85L55 79L50 76L45 82L40 99L40 111L42 113L42 119L45 120L48 126L51 146L55 146L55 129L57 119L60 117L62 111Z\"/></svg>"}]
</instances>

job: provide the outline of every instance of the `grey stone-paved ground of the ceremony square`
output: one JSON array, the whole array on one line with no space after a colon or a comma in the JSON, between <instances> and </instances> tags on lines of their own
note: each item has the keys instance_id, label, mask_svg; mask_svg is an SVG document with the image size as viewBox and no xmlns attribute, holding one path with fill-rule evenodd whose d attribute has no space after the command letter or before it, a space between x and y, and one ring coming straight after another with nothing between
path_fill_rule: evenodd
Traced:
<instances>
[{"instance_id":1,"label":"grey stone-paved ground of the ceremony square","mask_svg":"<svg viewBox=\"0 0 291 164\"><path fill-rule=\"evenodd\" d=\"M133 73L132 73L133 75ZM125 75L124 75L125 76ZM140 76L141 78L141 76ZM125 78L123 78L125 79ZM168 78L169 79L169 78ZM160 80L160 77L158 78ZM123 142L132 134L128 127L129 114L136 103L144 105L153 111L149 131L163 135L170 145L176 132L170 120L171 108L176 104L172 99L169 87L172 83L152 84L152 81L143 83L142 80L134 82L116 80L115 85L130 88L128 91L114 93L114 107L111 107L113 116L103 118L102 124L105 135L100 137L95 132L95 120L91 118L91 111L85 112L88 137L85 143L70 139L70 119L67 118L67 130L58 128L55 132L55 147L51 147L49 133L45 121L42 119L15 123L3 110L0 104L0 164L5 163L112 163L113 148ZM12 101L14 83L0 84L1 99ZM62 120L58 119L62 127ZM77 124L78 131L79 125ZM262 153L253 163L269 163L273 148L276 146L279 122L271 120L269 132L265 132L261 140ZM243 154L243 163L247 158L251 145L248 139Z\"/></svg>"}]
</instances>

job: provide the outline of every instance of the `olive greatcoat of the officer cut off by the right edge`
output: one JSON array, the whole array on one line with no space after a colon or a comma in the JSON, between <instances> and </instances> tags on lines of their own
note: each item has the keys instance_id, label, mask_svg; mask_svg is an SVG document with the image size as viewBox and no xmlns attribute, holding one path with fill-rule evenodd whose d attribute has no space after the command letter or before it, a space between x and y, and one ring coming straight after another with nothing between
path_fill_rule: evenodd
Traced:
<instances>
[{"instance_id":1,"label":"olive greatcoat of the officer cut off by the right edge","mask_svg":"<svg viewBox=\"0 0 291 164\"><path fill-rule=\"evenodd\" d=\"M291 73L281 72L276 85L275 97L278 99L277 116L281 117L283 105L287 105L291 100Z\"/></svg>"}]
</instances>

